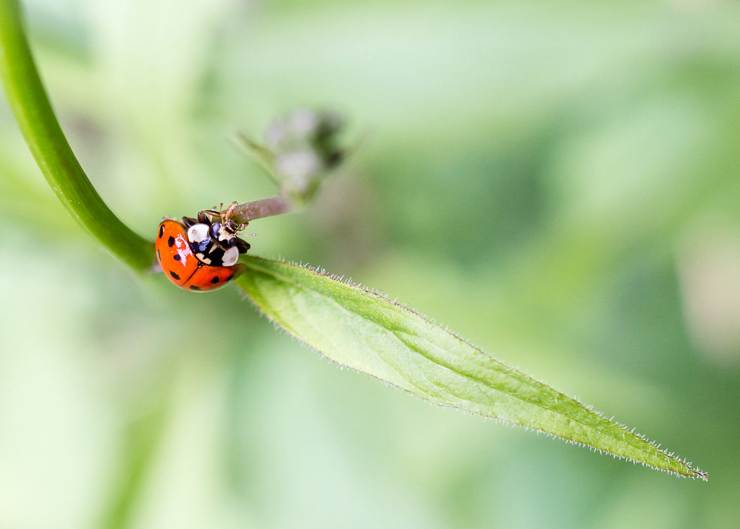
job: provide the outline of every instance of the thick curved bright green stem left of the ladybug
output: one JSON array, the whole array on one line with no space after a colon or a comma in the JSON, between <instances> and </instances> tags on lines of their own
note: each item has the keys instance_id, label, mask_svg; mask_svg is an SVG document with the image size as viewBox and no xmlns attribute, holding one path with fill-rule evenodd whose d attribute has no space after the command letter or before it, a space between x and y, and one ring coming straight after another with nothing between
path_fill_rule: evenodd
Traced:
<instances>
[{"instance_id":1,"label":"thick curved bright green stem left of the ladybug","mask_svg":"<svg viewBox=\"0 0 740 529\"><path fill-rule=\"evenodd\" d=\"M115 257L147 270L154 245L115 216L75 158L38 76L17 0L0 0L0 76L28 147L61 203Z\"/></svg>"}]
</instances>

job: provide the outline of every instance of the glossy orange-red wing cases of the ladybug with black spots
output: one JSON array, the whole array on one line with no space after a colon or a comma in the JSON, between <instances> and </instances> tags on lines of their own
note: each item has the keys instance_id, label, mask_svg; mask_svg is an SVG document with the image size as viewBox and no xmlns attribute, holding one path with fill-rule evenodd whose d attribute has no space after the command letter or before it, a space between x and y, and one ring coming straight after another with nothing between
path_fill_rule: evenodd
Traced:
<instances>
[{"instance_id":1,"label":"glossy orange-red wing cases of the ladybug with black spots","mask_svg":"<svg viewBox=\"0 0 740 529\"><path fill-rule=\"evenodd\" d=\"M155 250L159 266L167 279L193 292L221 288L246 270L243 264L209 266L198 261L190 249L185 228L173 220L164 220L159 224Z\"/></svg>"}]
</instances>

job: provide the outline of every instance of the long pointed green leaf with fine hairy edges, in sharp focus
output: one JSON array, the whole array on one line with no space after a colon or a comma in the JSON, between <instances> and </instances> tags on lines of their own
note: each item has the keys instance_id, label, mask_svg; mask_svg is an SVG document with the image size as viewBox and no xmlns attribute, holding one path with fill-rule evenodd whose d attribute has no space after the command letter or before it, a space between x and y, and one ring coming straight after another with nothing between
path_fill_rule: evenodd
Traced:
<instances>
[{"instance_id":1,"label":"long pointed green leaf with fine hairy edges, in sharp focus","mask_svg":"<svg viewBox=\"0 0 740 529\"><path fill-rule=\"evenodd\" d=\"M706 480L707 474L627 427L503 365L377 293L296 264L245 256L237 280L273 322L337 364L436 405L529 427L566 441Z\"/></svg>"}]
</instances>

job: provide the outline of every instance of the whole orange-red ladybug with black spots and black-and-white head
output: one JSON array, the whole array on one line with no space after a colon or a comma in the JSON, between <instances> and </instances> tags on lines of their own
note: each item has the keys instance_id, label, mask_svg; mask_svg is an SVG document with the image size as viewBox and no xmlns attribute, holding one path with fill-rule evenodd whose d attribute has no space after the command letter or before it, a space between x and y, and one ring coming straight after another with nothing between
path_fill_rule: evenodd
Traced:
<instances>
[{"instance_id":1,"label":"whole orange-red ladybug with black spots and black-and-white head","mask_svg":"<svg viewBox=\"0 0 740 529\"><path fill-rule=\"evenodd\" d=\"M157 232L157 261L167 278L184 290L216 290L246 270L237 264L249 243L237 233L246 222L237 224L232 216L237 202L225 212L202 210L197 219L183 217L182 222L162 219Z\"/></svg>"}]
</instances>

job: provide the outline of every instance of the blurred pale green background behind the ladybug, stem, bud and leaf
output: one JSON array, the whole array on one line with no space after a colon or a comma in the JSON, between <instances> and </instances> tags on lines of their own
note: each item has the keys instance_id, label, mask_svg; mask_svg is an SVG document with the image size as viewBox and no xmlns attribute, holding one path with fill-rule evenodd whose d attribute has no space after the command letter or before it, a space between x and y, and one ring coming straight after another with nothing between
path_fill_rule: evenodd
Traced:
<instances>
[{"instance_id":1,"label":"blurred pale green background behind the ladybug, stem, bud and leaf","mask_svg":"<svg viewBox=\"0 0 740 529\"><path fill-rule=\"evenodd\" d=\"M339 110L349 163L253 253L383 289L710 473L439 410L234 290L137 279L0 106L3 528L740 526L736 1L29 0L93 184L161 216L275 193L227 141Z\"/></svg>"}]
</instances>

